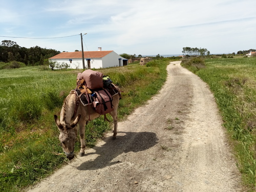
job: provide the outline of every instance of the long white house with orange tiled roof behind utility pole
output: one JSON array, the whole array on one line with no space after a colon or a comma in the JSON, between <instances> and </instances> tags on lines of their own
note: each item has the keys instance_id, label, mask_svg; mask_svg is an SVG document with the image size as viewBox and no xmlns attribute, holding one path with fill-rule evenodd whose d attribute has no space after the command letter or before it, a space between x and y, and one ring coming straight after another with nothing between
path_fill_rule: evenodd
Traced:
<instances>
[{"instance_id":1,"label":"long white house with orange tiled roof behind utility pole","mask_svg":"<svg viewBox=\"0 0 256 192\"><path fill-rule=\"evenodd\" d=\"M121 57L114 51L84 51L84 66L88 69L88 64L91 65L91 69L109 68L109 67L121 67L128 65L128 60ZM51 58L51 61L56 61L61 65L67 63L72 69L82 69L82 52L62 52Z\"/></svg>"}]
</instances>

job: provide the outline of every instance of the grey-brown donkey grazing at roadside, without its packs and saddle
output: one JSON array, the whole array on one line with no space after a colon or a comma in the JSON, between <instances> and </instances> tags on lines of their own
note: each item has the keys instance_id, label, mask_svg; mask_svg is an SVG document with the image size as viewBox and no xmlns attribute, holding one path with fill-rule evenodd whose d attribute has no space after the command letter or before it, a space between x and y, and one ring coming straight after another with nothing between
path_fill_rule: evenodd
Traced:
<instances>
[{"instance_id":1,"label":"grey-brown donkey grazing at roadside, without its packs and saddle","mask_svg":"<svg viewBox=\"0 0 256 192\"><path fill-rule=\"evenodd\" d=\"M116 87L116 89L118 90L118 92L120 91L118 87ZM70 94L66 97L60 111L60 120L58 119L57 115L54 115L55 123L60 131L59 140L62 144L63 151L69 160L74 158L75 139L78 134L77 125L79 125L79 135L81 143L79 156L82 157L85 153L84 150L86 148L86 143L84 141L85 125L88 123L89 118L90 120L93 120L100 116L100 114L94 111L91 105L83 106L82 104L78 105L77 111L75 113L76 115L74 115L76 106L75 94L75 91L72 90ZM109 113L114 120L113 140L116 139L117 135L117 107L119 104L119 99L120 94L116 94L113 96L112 104L114 110Z\"/></svg>"}]
</instances>

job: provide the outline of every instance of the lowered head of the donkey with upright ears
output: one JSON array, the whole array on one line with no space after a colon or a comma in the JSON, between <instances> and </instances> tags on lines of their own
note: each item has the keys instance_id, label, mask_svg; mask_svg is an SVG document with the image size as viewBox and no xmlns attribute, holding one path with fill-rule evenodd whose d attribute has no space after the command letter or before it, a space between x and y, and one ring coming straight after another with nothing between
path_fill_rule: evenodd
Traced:
<instances>
[{"instance_id":1,"label":"lowered head of the donkey with upright ears","mask_svg":"<svg viewBox=\"0 0 256 192\"><path fill-rule=\"evenodd\" d=\"M73 123L69 124L65 122L65 124L61 124L58 120L58 116L54 115L55 123L59 129L59 140L61 142L64 153L66 154L69 160L74 158L74 147L75 147L75 126L77 125L81 115L78 115Z\"/></svg>"}]
</instances>

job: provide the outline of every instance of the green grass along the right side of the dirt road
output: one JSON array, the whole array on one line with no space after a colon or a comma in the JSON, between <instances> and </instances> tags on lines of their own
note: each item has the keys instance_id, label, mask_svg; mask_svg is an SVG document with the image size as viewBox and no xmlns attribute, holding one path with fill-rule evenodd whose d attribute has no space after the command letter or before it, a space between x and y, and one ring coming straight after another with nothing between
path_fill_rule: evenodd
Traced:
<instances>
[{"instance_id":1,"label":"green grass along the right side of the dirt road","mask_svg":"<svg viewBox=\"0 0 256 192\"><path fill-rule=\"evenodd\" d=\"M206 68L184 65L214 93L245 185L256 191L256 58L206 59Z\"/></svg>"}]
</instances>

